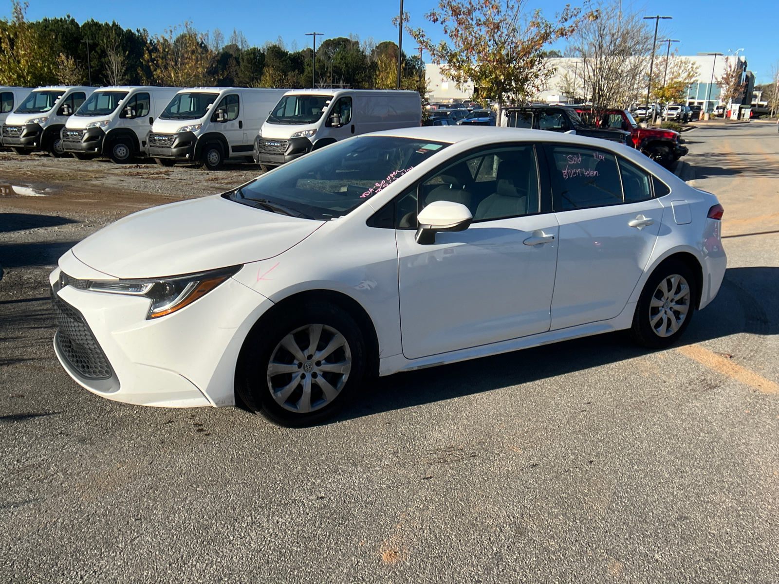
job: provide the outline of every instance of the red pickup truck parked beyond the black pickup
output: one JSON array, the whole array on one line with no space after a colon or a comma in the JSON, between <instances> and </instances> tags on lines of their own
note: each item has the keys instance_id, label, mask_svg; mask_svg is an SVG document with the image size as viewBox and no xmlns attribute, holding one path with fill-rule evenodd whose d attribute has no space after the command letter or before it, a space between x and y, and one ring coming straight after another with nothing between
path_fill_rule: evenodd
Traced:
<instances>
[{"instance_id":1,"label":"red pickup truck parked beyond the black pickup","mask_svg":"<svg viewBox=\"0 0 779 584\"><path fill-rule=\"evenodd\" d=\"M640 150L662 167L669 168L689 150L679 141L679 132L657 128L641 128L629 111L606 110L599 119L594 119L589 107L576 107L583 121L596 128L618 128L630 132L633 147Z\"/></svg>"}]
</instances>

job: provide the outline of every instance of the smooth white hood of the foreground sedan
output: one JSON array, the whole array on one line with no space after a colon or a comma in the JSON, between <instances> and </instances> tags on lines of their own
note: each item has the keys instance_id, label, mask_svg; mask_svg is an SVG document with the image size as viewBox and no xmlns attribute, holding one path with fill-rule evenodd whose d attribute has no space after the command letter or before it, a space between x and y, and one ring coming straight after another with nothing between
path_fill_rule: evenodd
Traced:
<instances>
[{"instance_id":1,"label":"smooth white hood of the foreground sedan","mask_svg":"<svg viewBox=\"0 0 779 584\"><path fill-rule=\"evenodd\" d=\"M213 195L133 213L72 248L117 278L153 278L236 266L286 252L324 221L300 219Z\"/></svg>"}]
</instances>

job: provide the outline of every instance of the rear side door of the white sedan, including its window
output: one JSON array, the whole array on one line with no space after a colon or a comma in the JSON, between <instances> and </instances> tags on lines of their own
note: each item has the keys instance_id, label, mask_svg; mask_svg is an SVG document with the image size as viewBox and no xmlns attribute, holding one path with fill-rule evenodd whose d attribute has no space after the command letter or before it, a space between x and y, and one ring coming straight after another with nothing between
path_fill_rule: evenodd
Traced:
<instances>
[{"instance_id":1,"label":"rear side door of the white sedan, including its window","mask_svg":"<svg viewBox=\"0 0 779 584\"><path fill-rule=\"evenodd\" d=\"M650 176L606 150L547 147L560 225L552 330L619 315L663 217Z\"/></svg>"}]
</instances>

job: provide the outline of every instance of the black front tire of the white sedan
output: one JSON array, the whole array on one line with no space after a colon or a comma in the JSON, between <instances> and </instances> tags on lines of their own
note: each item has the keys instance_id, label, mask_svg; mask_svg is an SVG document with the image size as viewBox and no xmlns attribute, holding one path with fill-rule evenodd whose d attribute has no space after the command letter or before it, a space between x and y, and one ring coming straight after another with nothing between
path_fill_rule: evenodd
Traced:
<instances>
[{"instance_id":1,"label":"black front tire of the white sedan","mask_svg":"<svg viewBox=\"0 0 779 584\"><path fill-rule=\"evenodd\" d=\"M312 327L316 326L322 327L318 350L326 350L336 338L335 333L340 333L346 342L330 354L324 354L323 361L313 358L315 352L309 353ZM298 357L281 346L282 341L291 335L294 335L292 339L299 350ZM306 361L300 361L301 358ZM238 359L236 398L276 424L289 427L318 424L354 399L365 373L365 359L365 340L354 318L335 304L305 301L295 310L277 311L263 318L249 334ZM287 371L269 377L271 360L280 368L291 368L299 373ZM342 368L347 363L351 364L351 368L346 373L319 370ZM306 375L308 403L313 408L307 412L304 393ZM322 379L330 384L330 396L326 395L325 386L319 385ZM287 388L287 394L281 392L282 388ZM273 389L279 390L276 397ZM303 411L295 411L297 407Z\"/></svg>"}]
</instances>

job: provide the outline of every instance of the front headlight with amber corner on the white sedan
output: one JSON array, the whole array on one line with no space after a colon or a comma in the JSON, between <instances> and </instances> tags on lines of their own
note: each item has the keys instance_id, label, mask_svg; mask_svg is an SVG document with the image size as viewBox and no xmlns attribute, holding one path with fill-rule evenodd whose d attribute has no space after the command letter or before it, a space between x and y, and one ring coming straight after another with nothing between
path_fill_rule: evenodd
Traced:
<instances>
[{"instance_id":1,"label":"front headlight with amber corner on the white sedan","mask_svg":"<svg viewBox=\"0 0 779 584\"><path fill-rule=\"evenodd\" d=\"M237 273L243 266L213 269L209 272L152 278L150 280L91 280L86 287L94 292L128 294L149 298L151 305L146 318L169 315L205 296Z\"/></svg>"}]
</instances>

